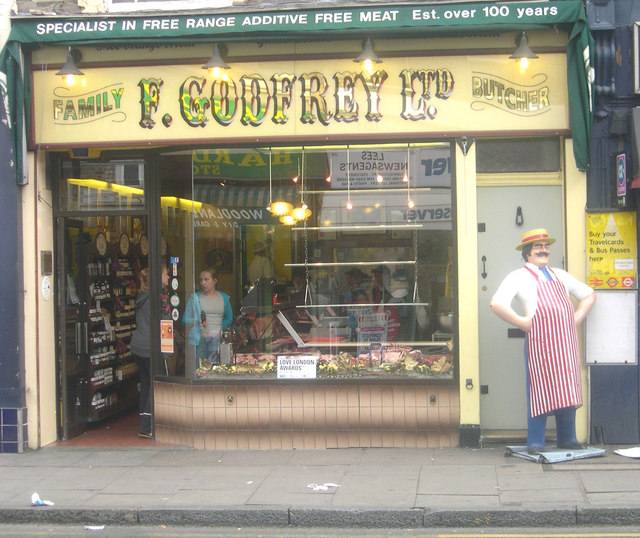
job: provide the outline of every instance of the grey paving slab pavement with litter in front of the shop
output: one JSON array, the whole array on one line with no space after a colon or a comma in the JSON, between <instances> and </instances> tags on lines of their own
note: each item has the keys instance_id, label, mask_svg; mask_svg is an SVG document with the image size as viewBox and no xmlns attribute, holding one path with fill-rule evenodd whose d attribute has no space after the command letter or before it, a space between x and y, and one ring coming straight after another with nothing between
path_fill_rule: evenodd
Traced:
<instances>
[{"instance_id":1,"label":"grey paving slab pavement with litter in front of the shop","mask_svg":"<svg viewBox=\"0 0 640 538\"><path fill-rule=\"evenodd\" d=\"M323 527L640 524L640 460L539 464L504 447L0 454L0 522ZM31 495L54 506L31 506Z\"/></svg>"}]
</instances>

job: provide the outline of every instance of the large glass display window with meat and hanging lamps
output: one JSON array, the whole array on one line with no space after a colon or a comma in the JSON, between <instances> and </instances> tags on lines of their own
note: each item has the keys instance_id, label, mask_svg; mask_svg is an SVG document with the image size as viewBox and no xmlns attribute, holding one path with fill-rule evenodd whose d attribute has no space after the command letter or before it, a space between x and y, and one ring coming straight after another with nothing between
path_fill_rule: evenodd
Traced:
<instances>
[{"instance_id":1,"label":"large glass display window with meat and hanging lamps","mask_svg":"<svg viewBox=\"0 0 640 538\"><path fill-rule=\"evenodd\" d=\"M160 170L184 201L163 202L175 375L453 379L448 145L198 149Z\"/></svg>"}]
</instances>

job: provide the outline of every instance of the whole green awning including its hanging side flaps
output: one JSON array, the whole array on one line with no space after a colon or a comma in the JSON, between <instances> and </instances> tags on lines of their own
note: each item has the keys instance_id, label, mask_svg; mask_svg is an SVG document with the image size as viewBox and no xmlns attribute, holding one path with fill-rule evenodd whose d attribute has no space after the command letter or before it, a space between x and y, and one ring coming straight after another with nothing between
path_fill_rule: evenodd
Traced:
<instances>
[{"instance_id":1,"label":"whole green awning including its hanging side flaps","mask_svg":"<svg viewBox=\"0 0 640 538\"><path fill-rule=\"evenodd\" d=\"M361 38L363 36L429 37L527 30L559 26L569 33L567 83L574 157L580 169L589 166L591 137L591 63L593 39L583 3L477 2L415 5L359 5L339 9L278 11L226 11L192 14L139 14L124 16L28 17L12 21L12 30L0 53L0 71L7 75L16 175L23 170L25 126L31 126L30 76L22 65L22 52L42 44L91 45L117 43L170 43L225 40L300 40Z\"/></svg>"}]
</instances>

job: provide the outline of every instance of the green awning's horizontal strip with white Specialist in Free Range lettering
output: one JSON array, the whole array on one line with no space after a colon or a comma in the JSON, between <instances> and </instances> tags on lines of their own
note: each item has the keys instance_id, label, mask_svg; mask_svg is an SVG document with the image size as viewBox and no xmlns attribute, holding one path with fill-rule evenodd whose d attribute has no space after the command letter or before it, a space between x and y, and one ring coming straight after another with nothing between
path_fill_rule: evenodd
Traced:
<instances>
[{"instance_id":1,"label":"green awning's horizontal strip with white Specialist in Free Range lettering","mask_svg":"<svg viewBox=\"0 0 640 538\"><path fill-rule=\"evenodd\" d=\"M526 29L573 23L582 2L479 2L351 7L344 9L216 12L190 15L136 15L14 19L9 36L20 43L81 43L87 40L196 38L244 39L274 34L309 37L347 31L387 32L411 29L422 33L474 29ZM210 26L206 26L209 23ZM211 26L213 25L213 26ZM282 38L283 36L278 36Z\"/></svg>"}]
</instances>

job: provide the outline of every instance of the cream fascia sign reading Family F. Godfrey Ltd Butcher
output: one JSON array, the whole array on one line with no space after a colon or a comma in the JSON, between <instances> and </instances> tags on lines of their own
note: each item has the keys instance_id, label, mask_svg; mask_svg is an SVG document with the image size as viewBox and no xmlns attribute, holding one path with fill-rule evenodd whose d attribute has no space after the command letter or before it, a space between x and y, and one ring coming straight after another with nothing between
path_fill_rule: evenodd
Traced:
<instances>
[{"instance_id":1,"label":"cream fascia sign reading Family F. Godfrey Ltd Butcher","mask_svg":"<svg viewBox=\"0 0 640 538\"><path fill-rule=\"evenodd\" d=\"M200 65L83 68L86 85L72 87L37 71L35 141L86 147L569 129L564 54L545 54L524 72L502 55L391 58L376 68L348 59L254 61L217 79Z\"/></svg>"}]
</instances>

